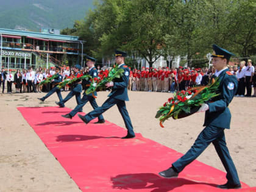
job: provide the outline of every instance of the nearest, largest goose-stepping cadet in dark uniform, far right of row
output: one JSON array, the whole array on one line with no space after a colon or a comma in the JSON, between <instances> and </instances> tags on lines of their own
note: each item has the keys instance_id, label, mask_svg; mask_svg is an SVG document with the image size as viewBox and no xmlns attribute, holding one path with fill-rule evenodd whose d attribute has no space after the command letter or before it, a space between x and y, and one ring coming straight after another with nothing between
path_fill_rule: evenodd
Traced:
<instances>
[{"instance_id":1,"label":"nearest, largest goose-stepping cadet in dark uniform, far right of row","mask_svg":"<svg viewBox=\"0 0 256 192\"><path fill-rule=\"evenodd\" d=\"M238 87L236 77L233 76L229 72L229 68L227 68L229 59L233 54L226 49L219 48L215 44L213 44L213 49L215 53L212 55L212 63L216 69L213 78L219 77L219 90L221 94L213 98L212 101L207 102L207 104L202 104L201 108L199 108L198 112L205 112L204 126L206 127L199 134L191 149L176 162L172 163L171 168L159 172L159 174L165 178L177 177L185 166L193 162L210 143L213 143L227 171L227 183L218 185L218 188L241 188L235 165L226 146L224 134L225 129L230 129L231 114L228 106Z\"/></svg>"}]
</instances>

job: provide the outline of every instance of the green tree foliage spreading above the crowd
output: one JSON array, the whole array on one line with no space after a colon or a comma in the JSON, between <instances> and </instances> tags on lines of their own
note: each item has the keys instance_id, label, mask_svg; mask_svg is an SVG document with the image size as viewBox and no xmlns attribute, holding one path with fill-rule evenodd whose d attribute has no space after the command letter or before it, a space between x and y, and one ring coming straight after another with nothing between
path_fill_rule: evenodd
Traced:
<instances>
[{"instance_id":1,"label":"green tree foliage spreading above the crowd","mask_svg":"<svg viewBox=\"0 0 256 192\"><path fill-rule=\"evenodd\" d=\"M238 57L255 55L254 0L102 0L94 7L75 30L65 29L86 40L85 51L94 57L111 60L123 49L150 66L161 55L205 65L213 43Z\"/></svg>"}]
</instances>

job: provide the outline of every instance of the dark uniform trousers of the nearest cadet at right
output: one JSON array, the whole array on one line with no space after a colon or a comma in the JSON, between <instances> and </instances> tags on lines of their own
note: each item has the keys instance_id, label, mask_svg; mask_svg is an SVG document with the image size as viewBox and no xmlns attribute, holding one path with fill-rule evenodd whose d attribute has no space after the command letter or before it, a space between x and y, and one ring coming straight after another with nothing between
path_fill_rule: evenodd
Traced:
<instances>
[{"instance_id":1,"label":"dark uniform trousers of the nearest cadet at right","mask_svg":"<svg viewBox=\"0 0 256 192\"><path fill-rule=\"evenodd\" d=\"M213 143L215 150L221 158L221 162L227 171L226 178L230 184L239 184L240 180L236 172L235 165L227 149L224 129L216 126L207 126L197 137L193 146L188 152L179 158L176 162L172 163L174 169L177 172L182 171L185 166L193 162L207 147L210 143Z\"/></svg>"}]
</instances>

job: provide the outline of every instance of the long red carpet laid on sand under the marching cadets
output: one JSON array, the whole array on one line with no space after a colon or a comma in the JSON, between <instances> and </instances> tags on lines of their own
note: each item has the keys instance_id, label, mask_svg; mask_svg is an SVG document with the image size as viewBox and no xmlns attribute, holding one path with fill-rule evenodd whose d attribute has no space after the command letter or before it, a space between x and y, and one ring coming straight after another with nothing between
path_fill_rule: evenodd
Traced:
<instances>
[{"instance_id":1,"label":"long red carpet laid on sand under the marching cadets","mask_svg":"<svg viewBox=\"0 0 256 192\"><path fill-rule=\"evenodd\" d=\"M126 129L113 123L85 125L78 116L62 118L69 108L18 110L82 191L222 191L215 186L226 182L224 172L198 161L177 179L158 177L182 154L140 134L121 140ZM256 187L242 186L229 191L256 191Z\"/></svg>"}]
</instances>

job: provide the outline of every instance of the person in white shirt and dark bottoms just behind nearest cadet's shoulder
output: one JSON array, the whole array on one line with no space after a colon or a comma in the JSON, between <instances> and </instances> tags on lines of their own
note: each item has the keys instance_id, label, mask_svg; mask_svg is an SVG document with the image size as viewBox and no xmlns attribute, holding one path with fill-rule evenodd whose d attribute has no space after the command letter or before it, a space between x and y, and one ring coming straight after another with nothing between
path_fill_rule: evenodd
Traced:
<instances>
[{"instance_id":1,"label":"person in white shirt and dark bottoms just behind nearest cadet's shoulder","mask_svg":"<svg viewBox=\"0 0 256 192\"><path fill-rule=\"evenodd\" d=\"M240 62L240 68L238 71L236 71L236 79L238 80L238 90L236 93L236 96L238 97L244 97L244 93L245 93L245 83L244 83L244 77L245 77L245 71L246 71L246 67L245 65L245 61L241 61Z\"/></svg>"}]
</instances>

